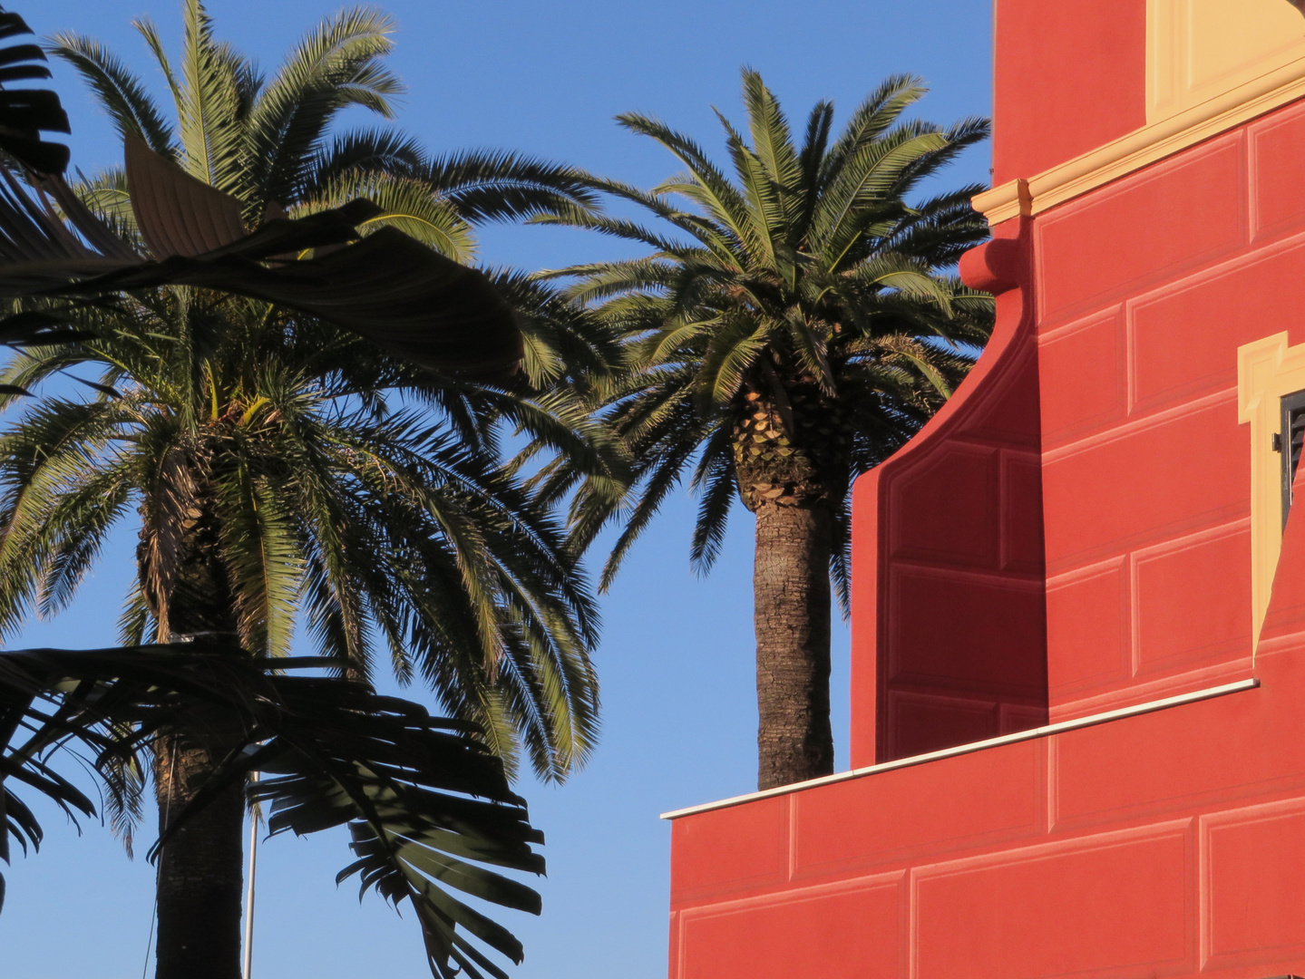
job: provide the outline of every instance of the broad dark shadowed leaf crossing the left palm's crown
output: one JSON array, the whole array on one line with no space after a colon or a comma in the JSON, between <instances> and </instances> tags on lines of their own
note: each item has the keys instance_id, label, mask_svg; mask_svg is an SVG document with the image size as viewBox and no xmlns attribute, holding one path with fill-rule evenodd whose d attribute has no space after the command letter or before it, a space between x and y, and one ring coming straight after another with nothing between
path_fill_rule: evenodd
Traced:
<instances>
[{"instance_id":1,"label":"broad dark shadowed leaf crossing the left palm's crown","mask_svg":"<svg viewBox=\"0 0 1305 979\"><path fill-rule=\"evenodd\" d=\"M346 244L381 212L376 206L355 199L299 220L275 219L241 236L235 203L228 207L218 192L187 183L144 145L132 159L138 169L127 173L130 206L158 259L136 257L61 179L44 186L56 194L80 237L54 212L40 188L29 192L12 175L0 175L8 181L0 184L0 261L7 259L0 265L0 295L97 296L197 285L322 315L427 368L493 374L521 358L515 317L480 272L395 228ZM209 215L207 223L188 224L177 201L191 212ZM453 219L454 231L458 226ZM196 227L210 231L197 239ZM333 245L345 248L321 258L284 259ZM281 261L269 263L271 258ZM17 330L12 340L33 339L25 327L29 321L9 321Z\"/></svg>"}]
</instances>

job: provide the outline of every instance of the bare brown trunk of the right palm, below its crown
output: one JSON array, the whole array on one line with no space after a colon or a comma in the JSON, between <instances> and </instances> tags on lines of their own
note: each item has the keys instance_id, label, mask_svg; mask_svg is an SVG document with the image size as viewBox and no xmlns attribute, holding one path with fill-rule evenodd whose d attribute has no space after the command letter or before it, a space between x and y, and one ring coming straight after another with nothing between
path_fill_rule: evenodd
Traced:
<instances>
[{"instance_id":1,"label":"bare brown trunk of the right palm, below its crown","mask_svg":"<svg viewBox=\"0 0 1305 979\"><path fill-rule=\"evenodd\" d=\"M821 503L762 503L757 514L757 789L834 772L829 726L829 559Z\"/></svg>"}]
</instances>

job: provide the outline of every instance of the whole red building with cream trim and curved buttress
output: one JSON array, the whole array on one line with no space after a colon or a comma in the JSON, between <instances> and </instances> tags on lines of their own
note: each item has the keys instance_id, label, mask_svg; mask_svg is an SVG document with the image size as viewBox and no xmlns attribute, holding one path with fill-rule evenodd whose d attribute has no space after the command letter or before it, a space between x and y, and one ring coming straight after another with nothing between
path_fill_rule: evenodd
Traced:
<instances>
[{"instance_id":1,"label":"whole red building with cream trim and curved buttress","mask_svg":"<svg viewBox=\"0 0 1305 979\"><path fill-rule=\"evenodd\" d=\"M669 813L672 979L1305 974L1305 17L996 16L998 325L856 486L853 770Z\"/></svg>"}]
</instances>

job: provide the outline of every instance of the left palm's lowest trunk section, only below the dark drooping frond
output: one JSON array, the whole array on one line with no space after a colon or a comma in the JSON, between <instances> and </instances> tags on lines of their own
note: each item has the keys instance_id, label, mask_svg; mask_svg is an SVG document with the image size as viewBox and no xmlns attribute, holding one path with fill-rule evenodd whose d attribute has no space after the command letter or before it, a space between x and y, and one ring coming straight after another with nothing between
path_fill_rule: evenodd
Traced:
<instances>
[{"instance_id":1,"label":"left palm's lowest trunk section, only below the dark drooping frond","mask_svg":"<svg viewBox=\"0 0 1305 979\"><path fill-rule=\"evenodd\" d=\"M198 791L214 759L189 738L159 738L154 785L159 832ZM163 847L158 872L155 979L239 979L244 795L227 789Z\"/></svg>"}]
</instances>

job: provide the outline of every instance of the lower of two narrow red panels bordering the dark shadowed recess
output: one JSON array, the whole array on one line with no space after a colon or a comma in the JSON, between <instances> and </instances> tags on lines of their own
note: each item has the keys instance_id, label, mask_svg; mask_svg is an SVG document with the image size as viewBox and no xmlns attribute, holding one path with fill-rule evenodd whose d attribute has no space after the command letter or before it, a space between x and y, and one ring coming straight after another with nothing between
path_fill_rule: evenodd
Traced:
<instances>
[{"instance_id":1,"label":"lower of two narrow red panels bordering the dark shadowed recess","mask_svg":"<svg viewBox=\"0 0 1305 979\"><path fill-rule=\"evenodd\" d=\"M1047 690L1052 704L1133 673L1124 558L1047 585Z\"/></svg>"}]
</instances>

